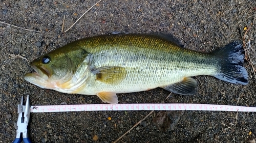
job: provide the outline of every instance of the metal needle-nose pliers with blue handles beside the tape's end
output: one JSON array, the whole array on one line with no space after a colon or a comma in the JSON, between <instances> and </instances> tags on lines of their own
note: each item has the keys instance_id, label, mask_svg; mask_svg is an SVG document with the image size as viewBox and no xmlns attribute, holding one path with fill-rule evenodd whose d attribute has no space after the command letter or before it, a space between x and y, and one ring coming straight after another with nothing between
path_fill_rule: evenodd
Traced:
<instances>
[{"instance_id":1,"label":"metal needle-nose pliers with blue handles beside the tape's end","mask_svg":"<svg viewBox=\"0 0 256 143\"><path fill-rule=\"evenodd\" d=\"M23 113L24 112L24 113ZM29 104L29 96L27 97L26 105L23 105L23 96L22 102L18 104L18 121L17 121L17 132L16 138L13 143L20 143L22 142L22 138L20 138L20 134L22 133L23 141L25 143L32 143L29 136L27 126L29 123L30 117L30 104Z\"/></svg>"}]
</instances>

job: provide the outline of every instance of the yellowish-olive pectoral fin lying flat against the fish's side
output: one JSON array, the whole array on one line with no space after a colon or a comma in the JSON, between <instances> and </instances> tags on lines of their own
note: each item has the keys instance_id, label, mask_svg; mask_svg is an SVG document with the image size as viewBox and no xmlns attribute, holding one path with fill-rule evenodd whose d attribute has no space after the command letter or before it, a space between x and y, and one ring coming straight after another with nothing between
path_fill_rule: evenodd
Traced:
<instances>
[{"instance_id":1,"label":"yellowish-olive pectoral fin lying flat against the fish's side","mask_svg":"<svg viewBox=\"0 0 256 143\"><path fill-rule=\"evenodd\" d=\"M96 80L109 84L120 83L126 77L123 67L105 66L93 69L93 73L96 74Z\"/></svg>"}]
</instances>

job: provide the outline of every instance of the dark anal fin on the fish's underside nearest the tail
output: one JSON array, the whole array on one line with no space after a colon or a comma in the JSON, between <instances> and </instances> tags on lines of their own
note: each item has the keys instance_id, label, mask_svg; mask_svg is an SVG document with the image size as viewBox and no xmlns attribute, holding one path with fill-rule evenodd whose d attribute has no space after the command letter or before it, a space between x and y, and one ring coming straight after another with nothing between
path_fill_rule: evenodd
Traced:
<instances>
[{"instance_id":1,"label":"dark anal fin on the fish's underside nearest the tail","mask_svg":"<svg viewBox=\"0 0 256 143\"><path fill-rule=\"evenodd\" d=\"M191 77L185 77L182 81L162 87L163 89L181 95L196 93L197 81Z\"/></svg>"}]
</instances>

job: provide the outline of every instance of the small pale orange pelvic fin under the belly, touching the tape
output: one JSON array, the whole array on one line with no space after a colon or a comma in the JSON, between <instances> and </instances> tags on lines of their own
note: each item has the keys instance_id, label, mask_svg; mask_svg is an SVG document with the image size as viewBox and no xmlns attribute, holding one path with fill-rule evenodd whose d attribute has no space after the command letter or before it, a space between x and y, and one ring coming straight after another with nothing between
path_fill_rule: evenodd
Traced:
<instances>
[{"instance_id":1,"label":"small pale orange pelvic fin under the belly, touching the tape","mask_svg":"<svg viewBox=\"0 0 256 143\"><path fill-rule=\"evenodd\" d=\"M104 103L117 104L118 98L113 92L100 92L96 94Z\"/></svg>"}]
</instances>

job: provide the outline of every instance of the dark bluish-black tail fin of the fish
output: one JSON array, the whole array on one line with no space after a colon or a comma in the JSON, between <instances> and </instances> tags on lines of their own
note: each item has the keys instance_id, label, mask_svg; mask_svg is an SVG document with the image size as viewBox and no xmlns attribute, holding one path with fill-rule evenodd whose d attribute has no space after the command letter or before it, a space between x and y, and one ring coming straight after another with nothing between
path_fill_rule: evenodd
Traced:
<instances>
[{"instance_id":1,"label":"dark bluish-black tail fin of the fish","mask_svg":"<svg viewBox=\"0 0 256 143\"><path fill-rule=\"evenodd\" d=\"M212 52L221 60L220 71L214 76L231 83L247 84L248 73L243 67L244 53L243 46L239 42L230 43Z\"/></svg>"}]
</instances>

